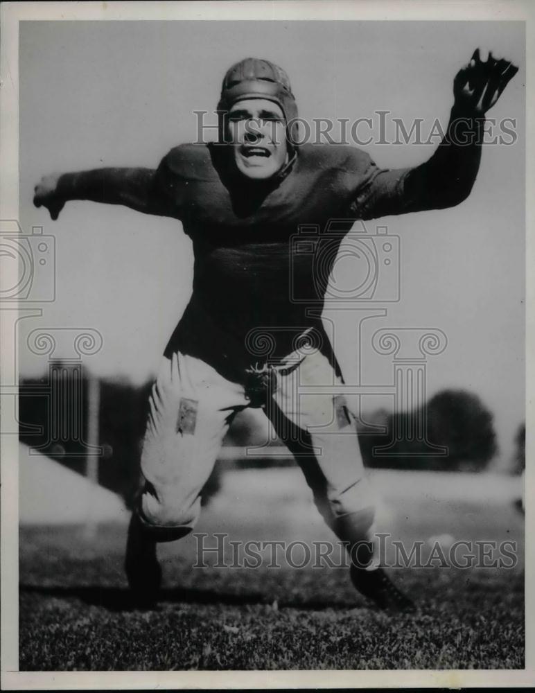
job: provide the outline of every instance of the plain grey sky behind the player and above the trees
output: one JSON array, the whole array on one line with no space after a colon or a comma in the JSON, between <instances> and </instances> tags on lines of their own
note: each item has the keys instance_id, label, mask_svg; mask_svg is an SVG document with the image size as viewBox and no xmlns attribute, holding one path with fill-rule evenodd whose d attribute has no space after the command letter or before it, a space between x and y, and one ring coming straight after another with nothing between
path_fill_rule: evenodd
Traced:
<instances>
[{"instance_id":1,"label":"plain grey sky behind the player and above the trees","mask_svg":"<svg viewBox=\"0 0 535 693\"><path fill-rule=\"evenodd\" d=\"M70 202L57 222L32 204L42 175L98 168L155 168L177 143L194 141L193 112L216 107L233 62L255 55L286 69L299 114L446 125L453 77L477 46L519 65L489 117L516 119L511 146L484 147L473 191L458 207L368 222L401 247L401 300L362 323L337 315L337 356L348 383L392 381L392 358L369 346L378 328L437 328L443 353L427 364L428 395L466 389L495 415L502 457L524 419L525 51L518 22L27 21L19 53L20 222L55 240L55 301L21 321L21 375L46 371L25 346L35 328L93 328L103 338L87 366L141 383L191 292L191 242L176 220ZM213 121L212 121L213 122ZM413 166L435 145L362 147L383 167ZM374 306L376 308L377 306ZM328 317L328 313L326 313ZM331 315L333 317L333 315ZM67 333L67 331L64 331ZM55 356L68 355L68 349ZM369 398L367 409L389 404Z\"/></svg>"}]
</instances>

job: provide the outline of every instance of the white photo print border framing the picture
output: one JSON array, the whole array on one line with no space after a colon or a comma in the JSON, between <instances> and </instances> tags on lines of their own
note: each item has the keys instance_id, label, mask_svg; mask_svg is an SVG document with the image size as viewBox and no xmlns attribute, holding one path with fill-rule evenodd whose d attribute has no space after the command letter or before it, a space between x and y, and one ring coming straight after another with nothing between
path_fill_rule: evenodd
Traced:
<instances>
[{"instance_id":1,"label":"white photo print border framing the picture","mask_svg":"<svg viewBox=\"0 0 535 693\"><path fill-rule=\"evenodd\" d=\"M525 21L527 65L535 64L535 6L529 0L446 1L272 1L258 2L27 2L2 3L1 12L1 177L2 218L18 214L18 40L20 21L111 20L517 20ZM528 74L531 70L528 69ZM527 191L535 190L535 89L527 85ZM531 156L530 156L531 154ZM535 202L527 200L527 421L535 421ZM0 311L0 371L12 359L14 340ZM531 357L531 358L529 358ZM2 410L2 428L16 426ZM535 451L534 427L527 428L527 459ZM3 690L98 690L142 688L261 687L525 687L535 684L535 593L526 590L526 668L523 671L273 671L273 672L18 672L18 442L1 439L1 687ZM535 470L526 469L526 524L534 528ZM529 536L529 532L526 532ZM535 585L535 546L526 543L525 584Z\"/></svg>"}]
</instances>

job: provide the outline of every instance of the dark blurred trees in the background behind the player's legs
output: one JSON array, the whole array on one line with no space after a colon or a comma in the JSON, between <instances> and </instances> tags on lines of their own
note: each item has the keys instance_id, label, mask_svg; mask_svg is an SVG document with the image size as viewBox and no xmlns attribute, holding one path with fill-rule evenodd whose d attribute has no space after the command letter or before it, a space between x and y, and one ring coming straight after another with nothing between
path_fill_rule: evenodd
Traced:
<instances>
[{"instance_id":1,"label":"dark blurred trees in the background behind the player's legs","mask_svg":"<svg viewBox=\"0 0 535 693\"><path fill-rule=\"evenodd\" d=\"M87 374L80 376L76 369L61 364L55 364L53 370L62 375L21 380L19 438L83 474L88 452ZM76 378L79 383L74 382ZM152 381L136 386L128 381L101 379L99 385L98 482L131 500L139 487L139 458ZM415 417L426 423L425 439L398 435L411 430ZM65 430L58 426L60 419L67 421ZM225 442L235 446L251 444L250 424L247 416L238 417ZM497 452L492 413L475 394L458 389L439 392L421 410L398 414L378 410L366 422L358 422L358 429L362 456L370 467L482 471ZM520 439L519 432L517 443ZM247 464L256 466L258 462L253 459ZM264 460L261 464L270 462ZM244 465L236 462L235 466ZM216 466L204 498L217 488Z\"/></svg>"}]
</instances>

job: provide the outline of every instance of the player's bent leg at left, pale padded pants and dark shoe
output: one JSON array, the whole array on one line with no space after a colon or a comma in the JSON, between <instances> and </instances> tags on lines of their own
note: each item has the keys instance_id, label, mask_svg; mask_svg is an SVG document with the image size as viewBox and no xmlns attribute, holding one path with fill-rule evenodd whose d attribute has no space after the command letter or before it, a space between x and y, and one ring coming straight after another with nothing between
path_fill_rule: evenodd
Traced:
<instances>
[{"instance_id":1,"label":"player's bent leg at left, pale padded pants and dark shoe","mask_svg":"<svg viewBox=\"0 0 535 693\"><path fill-rule=\"evenodd\" d=\"M150 604L161 581L156 545L185 536L198 520L200 492L216 462L243 388L206 363L164 358L150 396L141 471L145 478L128 532L125 570L138 602Z\"/></svg>"}]
</instances>

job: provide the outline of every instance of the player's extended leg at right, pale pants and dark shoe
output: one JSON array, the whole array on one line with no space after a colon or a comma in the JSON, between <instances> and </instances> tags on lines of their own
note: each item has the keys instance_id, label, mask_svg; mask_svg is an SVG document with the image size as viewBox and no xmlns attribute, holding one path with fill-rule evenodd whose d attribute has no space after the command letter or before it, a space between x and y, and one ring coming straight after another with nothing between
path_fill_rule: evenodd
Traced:
<instances>
[{"instance_id":1,"label":"player's extended leg at right, pale pants and dark shoe","mask_svg":"<svg viewBox=\"0 0 535 693\"><path fill-rule=\"evenodd\" d=\"M337 383L328 359L310 353L297 369L279 376L268 416L301 466L324 520L347 542L353 584L378 606L408 610L412 602L373 560L374 494L356 423L344 397L332 392Z\"/></svg>"}]
</instances>

